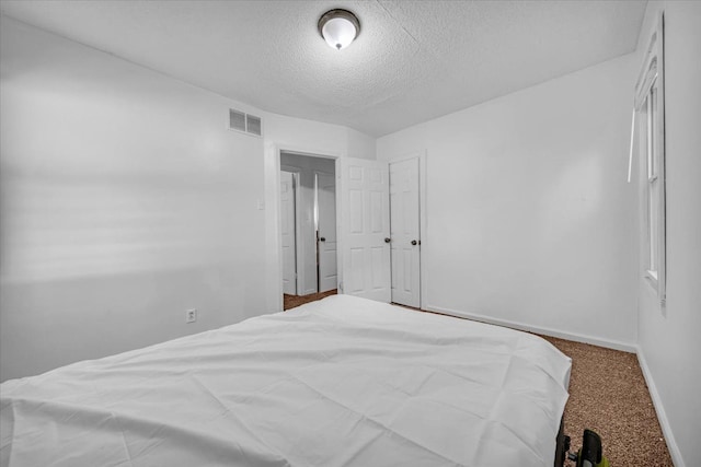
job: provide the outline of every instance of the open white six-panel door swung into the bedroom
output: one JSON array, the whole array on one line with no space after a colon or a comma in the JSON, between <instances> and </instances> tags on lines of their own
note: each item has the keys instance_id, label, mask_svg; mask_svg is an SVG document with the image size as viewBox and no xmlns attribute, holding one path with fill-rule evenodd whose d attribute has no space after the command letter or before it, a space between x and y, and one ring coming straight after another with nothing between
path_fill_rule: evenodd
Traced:
<instances>
[{"instance_id":1,"label":"open white six-panel door swung into the bedroom","mask_svg":"<svg viewBox=\"0 0 701 467\"><path fill-rule=\"evenodd\" d=\"M342 159L343 293L389 302L390 215L387 163Z\"/></svg>"}]
</instances>

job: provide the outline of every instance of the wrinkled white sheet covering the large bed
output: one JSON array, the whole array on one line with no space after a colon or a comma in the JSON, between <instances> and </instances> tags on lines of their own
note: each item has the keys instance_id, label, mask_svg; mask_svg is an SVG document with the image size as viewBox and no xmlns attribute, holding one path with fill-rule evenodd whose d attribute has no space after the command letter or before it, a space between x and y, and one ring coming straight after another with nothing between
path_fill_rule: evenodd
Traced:
<instances>
[{"instance_id":1,"label":"wrinkled white sheet covering the large bed","mask_svg":"<svg viewBox=\"0 0 701 467\"><path fill-rule=\"evenodd\" d=\"M347 295L0 386L2 466L552 466L570 359Z\"/></svg>"}]
</instances>

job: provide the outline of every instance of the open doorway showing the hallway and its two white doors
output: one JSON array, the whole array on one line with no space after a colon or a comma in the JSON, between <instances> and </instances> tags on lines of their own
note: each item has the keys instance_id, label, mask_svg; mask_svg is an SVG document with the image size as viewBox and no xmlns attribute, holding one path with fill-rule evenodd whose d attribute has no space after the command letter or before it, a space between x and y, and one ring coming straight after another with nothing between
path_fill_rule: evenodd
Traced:
<instances>
[{"instance_id":1,"label":"open doorway showing the hallway and its two white doors","mask_svg":"<svg viewBox=\"0 0 701 467\"><path fill-rule=\"evenodd\" d=\"M336 291L335 162L280 151L284 310Z\"/></svg>"}]
</instances>

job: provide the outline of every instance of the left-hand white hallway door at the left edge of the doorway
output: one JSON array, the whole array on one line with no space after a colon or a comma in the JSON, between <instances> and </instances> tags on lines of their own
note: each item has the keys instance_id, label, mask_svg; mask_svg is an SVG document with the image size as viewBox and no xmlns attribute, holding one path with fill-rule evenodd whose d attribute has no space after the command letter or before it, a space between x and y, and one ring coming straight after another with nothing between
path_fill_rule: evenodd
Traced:
<instances>
[{"instance_id":1,"label":"left-hand white hallway door at the left edge of the doorway","mask_svg":"<svg viewBox=\"0 0 701 467\"><path fill-rule=\"evenodd\" d=\"M295 174L290 172L280 172L280 225L283 231L283 293L297 295Z\"/></svg>"}]
</instances>

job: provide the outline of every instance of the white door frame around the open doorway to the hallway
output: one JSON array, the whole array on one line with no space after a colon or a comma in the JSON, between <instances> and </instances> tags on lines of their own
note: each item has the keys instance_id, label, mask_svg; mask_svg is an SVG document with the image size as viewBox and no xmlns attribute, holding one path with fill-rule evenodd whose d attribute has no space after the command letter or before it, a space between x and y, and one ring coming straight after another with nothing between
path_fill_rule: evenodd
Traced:
<instances>
[{"instance_id":1,"label":"white door frame around the open doorway to the hallway","mask_svg":"<svg viewBox=\"0 0 701 467\"><path fill-rule=\"evenodd\" d=\"M275 264L277 264L277 280L275 281L275 291L276 291L276 299L275 299L275 303L277 303L276 306L276 311L283 311L283 231L280 227L280 215L281 215L281 201L280 201L280 155L283 152L287 152L287 153L294 153L294 154L299 154L299 155L306 155L309 157L321 157L321 159L332 159L334 160L335 166L334 166L334 172L335 172L335 176L336 176L336 182L338 182L338 176L340 176L340 172L341 172L341 163L340 163L340 157L341 154L338 154L335 151L326 151L326 150L314 150L314 149L309 149L309 148L299 148L299 147L290 147L290 145L286 145L286 144L271 144L271 152L273 154L272 160L267 159L267 161L269 162L269 164L266 164L266 170L269 171L269 174L272 175L272 184L268 185L268 189L272 189L272 191L268 191L268 196L266 197L266 199L268 201L272 201L272 206L271 202L268 203L269 208L272 208L272 213L271 217L272 219L274 219L275 222L275 234L274 234L274 238L276 242L276 246L275 246L275 250L277 252L275 258L268 258L268 261L274 261ZM268 152L268 154L271 154L271 152ZM269 156L268 156L269 157ZM336 238L337 238L337 248L336 248L336 268L338 270L338 282L342 281L342 260L343 258L341 257L341 245L342 245L342 240L338 237L338 229L340 229L340 222L338 222L338 212L341 212L340 210L340 196L338 196L338 183L336 183ZM299 244L299 242L297 242ZM299 284L301 283L301 281L297 280L297 287L299 290ZM269 290L269 289L268 289Z\"/></svg>"}]
</instances>

